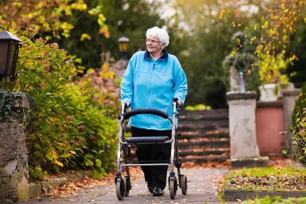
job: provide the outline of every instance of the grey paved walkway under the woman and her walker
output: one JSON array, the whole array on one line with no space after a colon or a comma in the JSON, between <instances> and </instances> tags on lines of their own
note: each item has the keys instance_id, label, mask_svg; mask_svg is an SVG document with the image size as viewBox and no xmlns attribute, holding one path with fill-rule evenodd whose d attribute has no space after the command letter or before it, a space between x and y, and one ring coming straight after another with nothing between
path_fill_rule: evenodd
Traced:
<instances>
[{"instance_id":1,"label":"grey paved walkway under the woman and her walker","mask_svg":"<svg viewBox=\"0 0 306 204\"><path fill-rule=\"evenodd\" d=\"M59 203L192 203L203 204L205 202L217 204L220 201L217 199L218 184L213 180L217 176L225 175L227 169L182 169L182 173L185 173L188 178L188 192L187 195L182 195L182 191L179 188L175 199L170 198L168 185L165 189L165 194L160 197L154 197L147 190L146 184L143 179L139 179L132 184L132 190L130 190L130 196L119 201L116 196L115 185L112 186L97 186L91 189L85 189L75 196L66 197L66 199L49 199L42 197L42 200L35 199L22 202L24 204L59 204ZM177 174L175 172L175 174ZM133 182L133 181L132 181ZM72 200L69 200L72 199ZM69 201L68 201L69 200ZM236 203L237 202L226 202Z\"/></svg>"}]
</instances>

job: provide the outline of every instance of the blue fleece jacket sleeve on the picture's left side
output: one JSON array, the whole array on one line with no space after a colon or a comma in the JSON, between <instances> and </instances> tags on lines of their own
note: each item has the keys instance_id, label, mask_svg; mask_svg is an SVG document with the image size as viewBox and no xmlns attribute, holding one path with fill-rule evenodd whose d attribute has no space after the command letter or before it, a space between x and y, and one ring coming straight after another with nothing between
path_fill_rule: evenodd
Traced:
<instances>
[{"instance_id":1,"label":"blue fleece jacket sleeve on the picture's left side","mask_svg":"<svg viewBox=\"0 0 306 204\"><path fill-rule=\"evenodd\" d=\"M129 65L125 70L125 73L121 82L121 103L127 101L132 105L133 101L133 89L134 89L134 71L132 69L132 62L130 61Z\"/></svg>"}]
</instances>

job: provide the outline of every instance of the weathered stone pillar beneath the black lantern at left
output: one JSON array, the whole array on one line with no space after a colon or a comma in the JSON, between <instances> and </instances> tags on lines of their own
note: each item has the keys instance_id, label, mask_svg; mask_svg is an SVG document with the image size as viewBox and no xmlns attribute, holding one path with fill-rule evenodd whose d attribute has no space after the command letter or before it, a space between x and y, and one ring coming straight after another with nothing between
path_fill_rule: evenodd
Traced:
<instances>
[{"instance_id":1,"label":"weathered stone pillar beneath the black lantern at left","mask_svg":"<svg viewBox=\"0 0 306 204\"><path fill-rule=\"evenodd\" d=\"M16 114L0 122L0 203L29 199L28 134L22 125L22 109L29 110L30 105L25 94L14 96L15 107L11 111Z\"/></svg>"}]
</instances>

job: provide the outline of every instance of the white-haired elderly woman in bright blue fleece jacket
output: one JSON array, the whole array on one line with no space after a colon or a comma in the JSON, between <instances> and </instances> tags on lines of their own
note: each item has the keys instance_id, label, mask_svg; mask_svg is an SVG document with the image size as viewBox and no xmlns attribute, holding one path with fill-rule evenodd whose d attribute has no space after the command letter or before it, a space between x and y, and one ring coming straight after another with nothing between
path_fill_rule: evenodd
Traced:
<instances>
[{"instance_id":1,"label":"white-haired elderly woman in bright blue fleece jacket","mask_svg":"<svg viewBox=\"0 0 306 204\"><path fill-rule=\"evenodd\" d=\"M165 47L168 33L158 27L146 32L146 50L133 55L121 83L121 102L140 108L158 109L172 113L172 98L179 98L183 106L187 94L187 80L183 68ZM170 112L169 112L170 111ZM171 117L171 116L170 116ZM132 137L168 136L171 139L171 122L156 115L141 114L130 118ZM171 144L137 145L138 161L169 161ZM163 195L166 187L166 166L141 167L148 190L154 196Z\"/></svg>"}]
</instances>

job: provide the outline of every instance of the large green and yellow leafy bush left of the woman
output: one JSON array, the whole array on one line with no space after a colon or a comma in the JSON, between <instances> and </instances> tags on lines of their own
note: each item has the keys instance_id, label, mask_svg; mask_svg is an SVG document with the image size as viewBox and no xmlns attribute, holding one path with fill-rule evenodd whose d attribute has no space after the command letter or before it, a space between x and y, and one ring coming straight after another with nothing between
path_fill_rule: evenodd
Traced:
<instances>
[{"instance_id":1,"label":"large green and yellow leafy bush left of the woman","mask_svg":"<svg viewBox=\"0 0 306 204\"><path fill-rule=\"evenodd\" d=\"M29 129L30 176L43 171L95 167L100 173L112 168L118 124L119 87L108 65L89 70L79 79L67 52L47 44L35 31L19 36L22 47L16 67L15 91L36 101ZM8 87L10 82L4 82ZM99 173L95 171L95 177Z\"/></svg>"}]
</instances>

